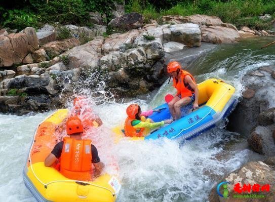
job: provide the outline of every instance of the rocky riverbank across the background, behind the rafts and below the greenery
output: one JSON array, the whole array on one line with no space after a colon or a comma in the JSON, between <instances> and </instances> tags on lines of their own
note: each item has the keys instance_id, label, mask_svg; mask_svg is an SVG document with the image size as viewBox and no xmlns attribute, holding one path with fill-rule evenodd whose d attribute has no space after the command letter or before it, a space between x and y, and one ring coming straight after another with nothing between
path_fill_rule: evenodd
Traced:
<instances>
[{"instance_id":1,"label":"rocky riverbank across the background, behind the rafts and below the greenery","mask_svg":"<svg viewBox=\"0 0 275 202\"><path fill-rule=\"evenodd\" d=\"M93 91L100 87L115 98L145 94L167 79L165 66L174 58L165 54L188 52L202 42L234 43L242 38L237 28L215 16L165 16L163 22L170 24L152 21L144 25L137 13L113 19L108 29L124 33L103 37L106 26L101 25L100 17L95 17L99 25L92 29L64 26L71 37L57 41L60 27L52 25L37 32L31 27L19 33L2 30L1 112L24 114L62 107L83 88ZM92 40L83 44L83 38ZM200 53L192 54L183 65Z\"/></svg>"}]
</instances>

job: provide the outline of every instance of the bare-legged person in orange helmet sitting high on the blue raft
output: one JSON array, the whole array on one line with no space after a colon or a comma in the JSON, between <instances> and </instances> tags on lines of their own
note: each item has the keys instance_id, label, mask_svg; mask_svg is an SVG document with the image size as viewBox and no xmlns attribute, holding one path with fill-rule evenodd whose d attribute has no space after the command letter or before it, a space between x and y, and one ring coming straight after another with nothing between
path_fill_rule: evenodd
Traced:
<instances>
[{"instance_id":1,"label":"bare-legged person in orange helmet sitting high on the blue raft","mask_svg":"<svg viewBox=\"0 0 275 202\"><path fill-rule=\"evenodd\" d=\"M181 118L181 107L189 103L193 103L193 109L199 107L199 90L194 77L181 69L181 65L177 61L167 65L167 72L173 77L173 86L177 89L176 96L168 103L173 119L177 120Z\"/></svg>"}]
</instances>

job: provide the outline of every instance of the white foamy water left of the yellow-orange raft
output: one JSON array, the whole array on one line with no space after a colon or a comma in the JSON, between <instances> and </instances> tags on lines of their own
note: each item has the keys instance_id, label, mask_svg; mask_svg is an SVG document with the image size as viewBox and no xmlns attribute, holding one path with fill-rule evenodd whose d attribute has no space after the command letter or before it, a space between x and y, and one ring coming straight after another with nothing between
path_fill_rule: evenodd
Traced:
<instances>
[{"instance_id":1,"label":"white foamy water left of the yellow-orange raft","mask_svg":"<svg viewBox=\"0 0 275 202\"><path fill-rule=\"evenodd\" d=\"M50 113L0 115L0 201L35 201L24 186L22 171L35 129Z\"/></svg>"}]
</instances>

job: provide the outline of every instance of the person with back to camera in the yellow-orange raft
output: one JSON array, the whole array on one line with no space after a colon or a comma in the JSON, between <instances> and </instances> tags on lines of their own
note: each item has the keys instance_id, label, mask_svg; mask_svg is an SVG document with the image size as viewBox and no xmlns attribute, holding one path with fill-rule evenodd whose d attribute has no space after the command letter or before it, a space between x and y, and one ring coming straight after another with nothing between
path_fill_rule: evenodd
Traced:
<instances>
[{"instance_id":1,"label":"person with back to camera in the yellow-orange raft","mask_svg":"<svg viewBox=\"0 0 275 202\"><path fill-rule=\"evenodd\" d=\"M45 166L52 166L60 158L60 173L73 180L90 181L100 175L104 164L91 140L82 140L83 125L78 117L66 123L69 137L57 143L45 159ZM92 165L94 168L92 168Z\"/></svg>"}]
</instances>

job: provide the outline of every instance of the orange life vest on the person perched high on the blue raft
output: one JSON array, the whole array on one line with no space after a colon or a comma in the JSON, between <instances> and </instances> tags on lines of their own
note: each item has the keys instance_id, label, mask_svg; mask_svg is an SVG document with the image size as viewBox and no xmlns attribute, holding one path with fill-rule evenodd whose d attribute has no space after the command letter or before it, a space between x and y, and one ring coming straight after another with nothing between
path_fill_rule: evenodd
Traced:
<instances>
[{"instance_id":1,"label":"orange life vest on the person perched high on the blue raft","mask_svg":"<svg viewBox=\"0 0 275 202\"><path fill-rule=\"evenodd\" d=\"M181 71L181 75L180 75L180 78L178 79L178 83L176 83L176 78L173 78L173 86L178 91L177 95L181 94L182 98L187 96L192 96L192 93L194 93L194 89L192 89L191 87L188 88L189 85L187 87L184 85L184 78L186 75L189 75L192 78L194 83L195 83L195 79L189 72L184 71L182 69L180 71Z\"/></svg>"}]
</instances>

